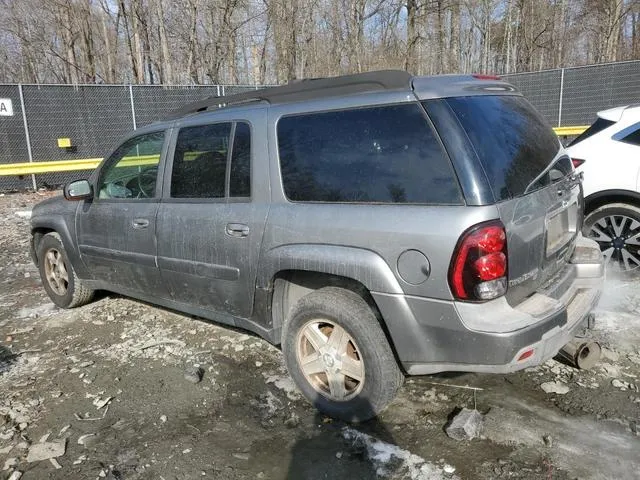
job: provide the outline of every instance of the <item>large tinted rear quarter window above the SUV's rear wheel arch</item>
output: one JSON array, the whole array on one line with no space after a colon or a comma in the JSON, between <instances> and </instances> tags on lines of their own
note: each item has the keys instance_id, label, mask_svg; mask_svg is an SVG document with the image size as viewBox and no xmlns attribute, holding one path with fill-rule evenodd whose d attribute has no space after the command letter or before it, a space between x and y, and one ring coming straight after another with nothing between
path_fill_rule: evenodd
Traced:
<instances>
[{"instance_id":1,"label":"large tinted rear quarter window above the SUV's rear wheel arch","mask_svg":"<svg viewBox=\"0 0 640 480\"><path fill-rule=\"evenodd\" d=\"M415 103L283 117L278 148L292 201L462 203L453 167Z\"/></svg>"}]
</instances>

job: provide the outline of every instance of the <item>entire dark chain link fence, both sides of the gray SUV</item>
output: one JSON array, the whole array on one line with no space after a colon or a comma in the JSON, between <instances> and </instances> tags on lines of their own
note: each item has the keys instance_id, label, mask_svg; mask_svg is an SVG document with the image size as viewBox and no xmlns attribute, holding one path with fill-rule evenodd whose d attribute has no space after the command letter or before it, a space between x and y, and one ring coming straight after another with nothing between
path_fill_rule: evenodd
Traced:
<instances>
[{"instance_id":1,"label":"entire dark chain link fence, both sides of the gray SUV","mask_svg":"<svg viewBox=\"0 0 640 480\"><path fill-rule=\"evenodd\" d=\"M640 103L640 61L505 75L554 126L588 125L596 112ZM0 164L99 158L132 129L209 96L255 86L0 85ZM24 111L22 108L24 105ZM69 138L71 147L58 147ZM0 176L0 191L57 187L88 171Z\"/></svg>"}]
</instances>

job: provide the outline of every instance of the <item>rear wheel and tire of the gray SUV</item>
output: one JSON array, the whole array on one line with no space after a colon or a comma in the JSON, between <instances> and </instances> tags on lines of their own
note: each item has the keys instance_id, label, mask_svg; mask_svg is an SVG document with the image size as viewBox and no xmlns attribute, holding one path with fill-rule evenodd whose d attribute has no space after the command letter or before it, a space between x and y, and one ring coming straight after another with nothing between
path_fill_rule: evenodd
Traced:
<instances>
[{"instance_id":1,"label":"rear wheel and tire of the gray SUV","mask_svg":"<svg viewBox=\"0 0 640 480\"><path fill-rule=\"evenodd\" d=\"M378 415L404 381L374 312L342 288L325 287L298 301L284 324L282 351L304 396L321 412L348 422Z\"/></svg>"}]
</instances>

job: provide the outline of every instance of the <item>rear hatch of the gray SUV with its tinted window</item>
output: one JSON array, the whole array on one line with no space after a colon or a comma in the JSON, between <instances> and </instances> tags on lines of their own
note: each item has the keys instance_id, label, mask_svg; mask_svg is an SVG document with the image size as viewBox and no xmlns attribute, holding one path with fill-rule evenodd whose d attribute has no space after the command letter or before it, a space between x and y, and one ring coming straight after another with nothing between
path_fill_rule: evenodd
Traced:
<instances>
[{"instance_id":1,"label":"rear hatch of the gray SUV with its tinted window","mask_svg":"<svg viewBox=\"0 0 640 480\"><path fill-rule=\"evenodd\" d=\"M572 280L565 267L580 231L582 190L557 136L519 95L441 102L464 130L505 226L507 301L516 305L539 290L562 295Z\"/></svg>"}]
</instances>

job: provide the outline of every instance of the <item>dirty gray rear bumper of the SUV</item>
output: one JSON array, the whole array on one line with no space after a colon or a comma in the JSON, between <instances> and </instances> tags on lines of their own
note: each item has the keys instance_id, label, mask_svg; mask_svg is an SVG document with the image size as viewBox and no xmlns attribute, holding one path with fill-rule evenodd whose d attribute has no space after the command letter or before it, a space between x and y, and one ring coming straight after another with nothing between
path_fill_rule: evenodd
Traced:
<instances>
[{"instance_id":1,"label":"dirty gray rear bumper of the SUV","mask_svg":"<svg viewBox=\"0 0 640 480\"><path fill-rule=\"evenodd\" d=\"M482 304L373 294L405 371L508 373L555 356L585 326L604 283L597 244L579 238L571 282L558 298L538 292L516 307L504 298ZM566 286L566 285L565 285ZM519 357L533 350L522 361Z\"/></svg>"}]
</instances>

